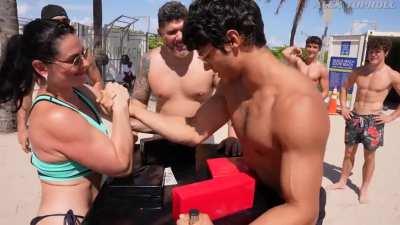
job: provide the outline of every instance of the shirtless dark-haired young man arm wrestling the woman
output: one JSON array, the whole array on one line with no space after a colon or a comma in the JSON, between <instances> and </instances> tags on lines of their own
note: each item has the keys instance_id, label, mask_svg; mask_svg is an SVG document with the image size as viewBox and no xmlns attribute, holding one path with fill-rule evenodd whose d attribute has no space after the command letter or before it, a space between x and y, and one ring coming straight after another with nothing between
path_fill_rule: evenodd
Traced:
<instances>
[{"instance_id":1,"label":"shirtless dark-haired young man arm wrestling the woman","mask_svg":"<svg viewBox=\"0 0 400 225\"><path fill-rule=\"evenodd\" d=\"M315 224L329 119L313 83L265 48L256 2L193 1L183 42L219 74L216 93L191 117L154 113L135 104L130 112L167 139L192 145L231 119L244 161L282 200L251 224ZM188 215L177 223L187 225ZM212 222L200 214L198 224Z\"/></svg>"}]
</instances>

